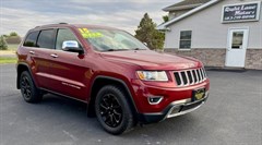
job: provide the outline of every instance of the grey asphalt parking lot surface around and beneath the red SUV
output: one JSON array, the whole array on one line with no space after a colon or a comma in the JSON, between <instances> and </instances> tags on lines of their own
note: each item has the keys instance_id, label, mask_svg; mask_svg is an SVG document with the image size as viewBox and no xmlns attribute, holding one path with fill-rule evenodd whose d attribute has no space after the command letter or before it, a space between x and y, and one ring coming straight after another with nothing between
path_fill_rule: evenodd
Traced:
<instances>
[{"instance_id":1,"label":"grey asphalt parking lot surface around and beneath the red SUV","mask_svg":"<svg viewBox=\"0 0 262 145\"><path fill-rule=\"evenodd\" d=\"M22 99L14 64L0 65L1 145L238 145L262 144L262 71L207 71L207 102L186 116L136 126L114 136L85 105L46 95L40 104Z\"/></svg>"}]
</instances>

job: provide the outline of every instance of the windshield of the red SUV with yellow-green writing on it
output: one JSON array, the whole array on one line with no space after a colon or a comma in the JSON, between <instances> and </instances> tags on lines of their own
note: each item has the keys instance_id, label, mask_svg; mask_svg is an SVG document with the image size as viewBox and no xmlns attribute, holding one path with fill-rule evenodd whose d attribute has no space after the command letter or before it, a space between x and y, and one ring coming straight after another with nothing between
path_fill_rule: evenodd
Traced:
<instances>
[{"instance_id":1,"label":"windshield of the red SUV with yellow-green writing on it","mask_svg":"<svg viewBox=\"0 0 262 145\"><path fill-rule=\"evenodd\" d=\"M132 35L118 29L79 28L82 36L98 51L145 50L147 47Z\"/></svg>"}]
</instances>

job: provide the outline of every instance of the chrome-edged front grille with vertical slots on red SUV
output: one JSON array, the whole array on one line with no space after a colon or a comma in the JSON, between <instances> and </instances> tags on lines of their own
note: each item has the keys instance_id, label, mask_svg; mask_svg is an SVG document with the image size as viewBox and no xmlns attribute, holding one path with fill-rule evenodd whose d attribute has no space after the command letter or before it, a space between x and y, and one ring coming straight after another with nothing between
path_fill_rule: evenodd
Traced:
<instances>
[{"instance_id":1,"label":"chrome-edged front grille with vertical slots on red SUV","mask_svg":"<svg viewBox=\"0 0 262 145\"><path fill-rule=\"evenodd\" d=\"M178 86L199 84L206 80L204 68L174 72Z\"/></svg>"}]
</instances>

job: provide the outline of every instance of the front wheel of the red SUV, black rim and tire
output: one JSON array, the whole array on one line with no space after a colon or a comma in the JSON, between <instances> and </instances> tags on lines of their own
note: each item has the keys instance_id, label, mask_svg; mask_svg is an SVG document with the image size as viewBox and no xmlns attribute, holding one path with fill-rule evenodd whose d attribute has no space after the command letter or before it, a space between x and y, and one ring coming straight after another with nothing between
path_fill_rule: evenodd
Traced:
<instances>
[{"instance_id":1,"label":"front wheel of the red SUV, black rim and tire","mask_svg":"<svg viewBox=\"0 0 262 145\"><path fill-rule=\"evenodd\" d=\"M134 125L134 118L126 92L114 85L104 86L95 100L95 112L105 131L122 134Z\"/></svg>"}]
</instances>

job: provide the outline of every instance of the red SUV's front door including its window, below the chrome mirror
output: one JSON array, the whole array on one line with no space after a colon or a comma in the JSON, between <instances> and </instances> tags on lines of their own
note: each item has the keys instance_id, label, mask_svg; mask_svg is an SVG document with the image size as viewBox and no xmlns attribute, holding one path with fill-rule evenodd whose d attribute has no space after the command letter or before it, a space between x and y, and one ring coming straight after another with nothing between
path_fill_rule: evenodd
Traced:
<instances>
[{"instance_id":1,"label":"red SUV's front door including its window, below the chrome mirror","mask_svg":"<svg viewBox=\"0 0 262 145\"><path fill-rule=\"evenodd\" d=\"M62 43L66 40L76 40L79 46L82 46L70 28L57 29L56 49L49 53L52 57L50 60L52 87L50 89L84 100L87 95L90 68L84 61L84 55L62 50Z\"/></svg>"}]
</instances>

